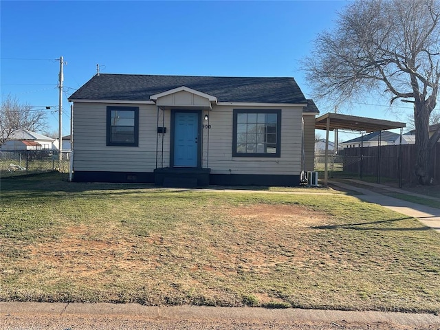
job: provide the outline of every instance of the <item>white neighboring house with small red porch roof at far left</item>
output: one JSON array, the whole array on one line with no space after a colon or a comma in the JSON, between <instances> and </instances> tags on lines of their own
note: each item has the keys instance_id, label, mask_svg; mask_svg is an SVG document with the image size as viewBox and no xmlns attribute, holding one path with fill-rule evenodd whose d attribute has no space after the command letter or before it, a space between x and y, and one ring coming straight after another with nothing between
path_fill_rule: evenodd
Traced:
<instances>
[{"instance_id":1,"label":"white neighboring house with small red porch roof at far left","mask_svg":"<svg viewBox=\"0 0 440 330\"><path fill-rule=\"evenodd\" d=\"M0 149L5 150L52 150L55 139L39 133L28 131L27 129L19 129L14 131L8 141L0 146Z\"/></svg>"}]
</instances>

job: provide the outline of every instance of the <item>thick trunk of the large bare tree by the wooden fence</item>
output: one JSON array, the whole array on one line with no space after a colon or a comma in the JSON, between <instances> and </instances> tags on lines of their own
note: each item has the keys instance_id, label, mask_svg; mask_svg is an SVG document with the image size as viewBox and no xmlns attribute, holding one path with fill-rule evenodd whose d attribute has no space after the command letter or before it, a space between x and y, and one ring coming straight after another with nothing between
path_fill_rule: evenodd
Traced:
<instances>
[{"instance_id":1,"label":"thick trunk of the large bare tree by the wooden fence","mask_svg":"<svg viewBox=\"0 0 440 330\"><path fill-rule=\"evenodd\" d=\"M415 175L419 184L428 185L431 183L431 150L429 143L429 115L430 111L424 102L414 104L414 123L416 129L415 149Z\"/></svg>"}]
</instances>

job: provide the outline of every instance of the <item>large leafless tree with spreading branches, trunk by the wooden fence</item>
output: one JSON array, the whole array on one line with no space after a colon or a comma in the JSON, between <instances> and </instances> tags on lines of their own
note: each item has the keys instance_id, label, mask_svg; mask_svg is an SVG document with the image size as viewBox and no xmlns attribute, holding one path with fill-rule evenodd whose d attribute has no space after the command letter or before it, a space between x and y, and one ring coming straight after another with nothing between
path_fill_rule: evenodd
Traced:
<instances>
[{"instance_id":1,"label":"large leafless tree with spreading branches, trunk by the wooden fence","mask_svg":"<svg viewBox=\"0 0 440 330\"><path fill-rule=\"evenodd\" d=\"M440 129L429 137L440 79L439 0L357 0L339 15L336 29L322 32L303 60L315 98L342 102L381 92L414 104L421 184L432 177L430 157Z\"/></svg>"}]
</instances>

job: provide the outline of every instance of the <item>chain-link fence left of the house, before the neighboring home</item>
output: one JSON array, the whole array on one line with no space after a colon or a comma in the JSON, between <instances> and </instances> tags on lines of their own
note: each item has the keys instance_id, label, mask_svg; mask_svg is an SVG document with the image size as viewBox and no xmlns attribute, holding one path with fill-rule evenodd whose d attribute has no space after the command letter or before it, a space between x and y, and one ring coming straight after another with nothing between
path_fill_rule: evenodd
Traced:
<instances>
[{"instance_id":1,"label":"chain-link fence left of the house, before the neighboring home","mask_svg":"<svg viewBox=\"0 0 440 330\"><path fill-rule=\"evenodd\" d=\"M27 175L58 170L69 173L70 151L0 151L0 177Z\"/></svg>"}]
</instances>

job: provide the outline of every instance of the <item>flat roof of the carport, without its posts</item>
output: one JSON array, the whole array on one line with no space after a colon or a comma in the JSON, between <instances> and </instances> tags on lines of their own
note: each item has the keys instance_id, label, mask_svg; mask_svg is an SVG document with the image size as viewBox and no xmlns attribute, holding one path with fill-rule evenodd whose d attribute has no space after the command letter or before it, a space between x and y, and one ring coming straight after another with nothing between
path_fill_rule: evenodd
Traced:
<instances>
[{"instance_id":1,"label":"flat roof of the carport, without its posts","mask_svg":"<svg viewBox=\"0 0 440 330\"><path fill-rule=\"evenodd\" d=\"M404 122L391 122L389 120L329 112L316 118L315 129L327 130L327 119L330 120L329 130L331 131L334 129L350 129L352 131L366 131L367 133L371 133L406 127Z\"/></svg>"}]
</instances>

